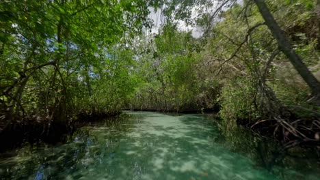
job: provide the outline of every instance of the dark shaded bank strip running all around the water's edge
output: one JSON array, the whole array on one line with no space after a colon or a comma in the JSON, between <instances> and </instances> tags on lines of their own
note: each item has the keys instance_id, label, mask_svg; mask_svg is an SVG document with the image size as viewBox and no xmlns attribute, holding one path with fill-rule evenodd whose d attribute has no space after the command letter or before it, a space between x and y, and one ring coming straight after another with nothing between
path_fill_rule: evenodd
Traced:
<instances>
[{"instance_id":1,"label":"dark shaded bank strip running all around the water's edge","mask_svg":"<svg viewBox=\"0 0 320 180\"><path fill-rule=\"evenodd\" d=\"M180 112L176 112L176 110L155 110L155 109L124 109L131 111L145 111L145 112L165 112L165 113L183 113L183 114L198 114L198 113L215 113L213 116L216 121L220 121L220 123L225 123L225 126L229 125L240 125L248 130L254 131L259 136L266 136L268 138L274 138L274 140L280 142L284 145L284 149L290 149L291 147L300 146L300 147L308 147L308 148L318 148L320 147L319 140L319 132L316 130L310 131L306 128L312 123L307 124L304 122L304 126L296 125L295 132L303 133L302 136L305 138L301 138L301 136L295 136L292 132L288 133L286 131L277 132L278 124L275 120L268 121L258 121L252 122L245 119L235 120L232 124L232 120L224 120L219 116L219 111L216 109L202 109L199 110L184 110ZM27 142L32 144L36 144L38 142L46 142L49 144L55 144L58 142L66 142L68 136L72 135L75 130L79 127L83 127L84 125L88 125L94 121L99 121L101 119L112 119L120 115L121 112L111 112L111 113L100 113L100 114L88 114L88 113L79 113L75 120L70 119L66 123L57 123L57 122L49 122L49 121L18 121L16 123L10 123L7 127L0 132L0 153L21 147L23 143ZM317 120L317 119L314 119ZM300 122L302 120L300 119ZM226 123L228 122L228 123ZM311 128L310 127L310 128ZM298 134L301 135L301 134ZM318 137L318 139L317 139ZM320 151L320 149L319 149Z\"/></svg>"}]
</instances>

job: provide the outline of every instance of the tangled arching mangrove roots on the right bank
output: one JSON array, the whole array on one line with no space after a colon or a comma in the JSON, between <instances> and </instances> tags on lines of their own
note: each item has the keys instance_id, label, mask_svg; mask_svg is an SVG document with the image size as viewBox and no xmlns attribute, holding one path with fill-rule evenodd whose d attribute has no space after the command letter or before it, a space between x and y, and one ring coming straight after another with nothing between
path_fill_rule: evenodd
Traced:
<instances>
[{"instance_id":1,"label":"tangled arching mangrove roots on the right bank","mask_svg":"<svg viewBox=\"0 0 320 180\"><path fill-rule=\"evenodd\" d=\"M299 118L295 115L292 107L284 106L277 99L274 91L265 83L258 82L256 97L254 103L256 110L260 112L263 120L251 125L254 130L266 128L268 132L284 143L284 147L290 148L300 144L320 143L320 113L308 108L294 106L293 108L301 108L308 112L309 118ZM265 132L265 130L264 130ZM289 143L290 142L290 143ZM286 144L289 143L289 144Z\"/></svg>"}]
</instances>

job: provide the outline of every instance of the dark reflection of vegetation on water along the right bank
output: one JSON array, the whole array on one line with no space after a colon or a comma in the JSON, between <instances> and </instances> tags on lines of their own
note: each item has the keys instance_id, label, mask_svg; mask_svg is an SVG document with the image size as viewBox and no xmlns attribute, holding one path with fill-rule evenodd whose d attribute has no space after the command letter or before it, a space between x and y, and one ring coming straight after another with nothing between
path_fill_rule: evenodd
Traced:
<instances>
[{"instance_id":1,"label":"dark reflection of vegetation on water along the right bank","mask_svg":"<svg viewBox=\"0 0 320 180\"><path fill-rule=\"evenodd\" d=\"M218 125L222 142L230 151L254 160L279 179L320 179L318 149L284 149L272 140L257 136L244 127ZM220 138L222 139L222 138Z\"/></svg>"}]
</instances>

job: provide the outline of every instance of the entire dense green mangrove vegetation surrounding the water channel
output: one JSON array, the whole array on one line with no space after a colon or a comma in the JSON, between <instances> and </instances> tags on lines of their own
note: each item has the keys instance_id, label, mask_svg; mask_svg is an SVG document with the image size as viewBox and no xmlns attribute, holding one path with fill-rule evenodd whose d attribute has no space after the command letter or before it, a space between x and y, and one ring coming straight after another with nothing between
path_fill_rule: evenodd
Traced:
<instances>
[{"instance_id":1,"label":"entire dense green mangrove vegetation surrounding the water channel","mask_svg":"<svg viewBox=\"0 0 320 180\"><path fill-rule=\"evenodd\" d=\"M319 142L319 20L315 0L1 1L0 131L219 110L229 130Z\"/></svg>"}]
</instances>

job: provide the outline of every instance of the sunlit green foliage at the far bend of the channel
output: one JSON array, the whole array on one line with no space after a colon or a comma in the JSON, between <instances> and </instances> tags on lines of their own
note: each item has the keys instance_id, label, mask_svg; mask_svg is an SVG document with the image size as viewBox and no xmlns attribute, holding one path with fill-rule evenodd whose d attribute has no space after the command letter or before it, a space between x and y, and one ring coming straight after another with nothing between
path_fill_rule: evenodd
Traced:
<instances>
[{"instance_id":1,"label":"sunlit green foliage at the far bend of the channel","mask_svg":"<svg viewBox=\"0 0 320 180\"><path fill-rule=\"evenodd\" d=\"M219 90L212 89L219 86L212 87L209 80L200 81L200 43L191 32L178 31L176 25L165 24L155 35L155 41L149 43L141 44L154 49L144 50L147 53L142 55L137 72L141 84L128 107L178 112L213 108Z\"/></svg>"}]
</instances>

